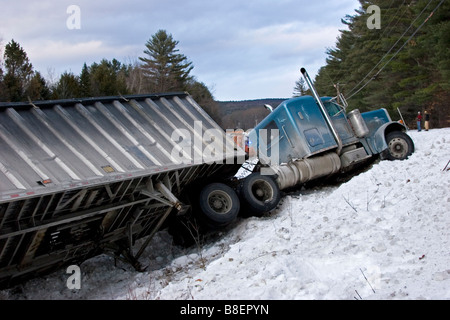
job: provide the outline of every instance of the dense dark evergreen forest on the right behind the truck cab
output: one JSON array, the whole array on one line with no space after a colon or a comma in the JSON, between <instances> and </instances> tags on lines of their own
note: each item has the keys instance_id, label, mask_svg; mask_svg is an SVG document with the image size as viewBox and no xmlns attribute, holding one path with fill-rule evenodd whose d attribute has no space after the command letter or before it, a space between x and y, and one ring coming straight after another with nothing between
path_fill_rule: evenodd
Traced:
<instances>
[{"instance_id":1,"label":"dense dark evergreen forest on the right behind the truck cab","mask_svg":"<svg viewBox=\"0 0 450 320\"><path fill-rule=\"evenodd\" d=\"M316 78L321 95L343 93L349 109L386 108L410 128L420 111L450 126L450 1L360 0ZM369 28L380 8L379 28ZM369 23L368 23L369 21ZM299 88L300 86L300 88ZM302 84L297 85L297 92Z\"/></svg>"}]
</instances>

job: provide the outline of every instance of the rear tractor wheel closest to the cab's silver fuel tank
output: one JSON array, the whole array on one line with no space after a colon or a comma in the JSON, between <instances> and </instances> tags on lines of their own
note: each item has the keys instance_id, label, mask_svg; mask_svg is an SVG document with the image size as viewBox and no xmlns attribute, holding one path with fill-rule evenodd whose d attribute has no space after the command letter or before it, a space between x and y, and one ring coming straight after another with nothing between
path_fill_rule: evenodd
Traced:
<instances>
[{"instance_id":1,"label":"rear tractor wheel closest to the cab's silver fuel tank","mask_svg":"<svg viewBox=\"0 0 450 320\"><path fill-rule=\"evenodd\" d=\"M241 197L246 215L261 216L276 208L281 199L278 184L272 176L252 173L242 184Z\"/></svg>"}]
</instances>

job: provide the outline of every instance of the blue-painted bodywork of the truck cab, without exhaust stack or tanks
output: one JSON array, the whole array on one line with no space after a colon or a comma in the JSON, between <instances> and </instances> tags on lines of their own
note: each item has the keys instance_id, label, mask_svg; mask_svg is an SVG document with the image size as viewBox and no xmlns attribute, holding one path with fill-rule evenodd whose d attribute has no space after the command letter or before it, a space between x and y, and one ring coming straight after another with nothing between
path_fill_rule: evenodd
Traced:
<instances>
[{"instance_id":1,"label":"blue-painted bodywork of the truck cab, without exhaust stack or tanks","mask_svg":"<svg viewBox=\"0 0 450 320\"><path fill-rule=\"evenodd\" d=\"M387 110L382 108L361 114L368 132L364 137L358 137L342 106L331 97L323 97L321 101L342 141L343 148L361 143L368 155L380 154L388 147L385 139L387 133L406 131L403 125L393 122ZM273 134L273 130L278 130L278 141L272 141L269 137L271 133ZM265 139L269 155L272 145L275 147L278 144L280 163L312 157L338 147L330 127L312 96L284 101L253 131L249 135L249 144L259 147L259 139Z\"/></svg>"}]
</instances>

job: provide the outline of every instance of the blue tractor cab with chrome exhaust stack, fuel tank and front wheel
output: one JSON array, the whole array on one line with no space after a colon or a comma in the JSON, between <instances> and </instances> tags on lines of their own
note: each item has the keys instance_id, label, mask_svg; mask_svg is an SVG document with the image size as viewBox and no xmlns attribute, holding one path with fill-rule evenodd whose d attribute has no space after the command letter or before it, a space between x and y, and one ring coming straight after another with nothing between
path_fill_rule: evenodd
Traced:
<instances>
[{"instance_id":1,"label":"blue tractor cab with chrome exhaust stack, fuel tank and front wheel","mask_svg":"<svg viewBox=\"0 0 450 320\"><path fill-rule=\"evenodd\" d=\"M348 171L374 157L403 160L414 151L406 127L386 109L360 113L332 97L319 97L302 69L312 96L282 102L249 133L249 154L280 189Z\"/></svg>"}]
</instances>

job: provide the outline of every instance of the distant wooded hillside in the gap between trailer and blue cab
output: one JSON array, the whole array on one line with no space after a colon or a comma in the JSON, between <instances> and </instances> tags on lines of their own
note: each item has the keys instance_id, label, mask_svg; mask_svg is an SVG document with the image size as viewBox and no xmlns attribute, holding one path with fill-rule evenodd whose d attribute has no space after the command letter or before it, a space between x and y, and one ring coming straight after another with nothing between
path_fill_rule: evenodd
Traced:
<instances>
[{"instance_id":1,"label":"distant wooded hillside in the gap between trailer and blue cab","mask_svg":"<svg viewBox=\"0 0 450 320\"><path fill-rule=\"evenodd\" d=\"M276 108L286 99L257 99L244 101L217 101L220 113L217 123L224 129L241 128L244 130L255 127L268 114L265 104Z\"/></svg>"}]
</instances>

